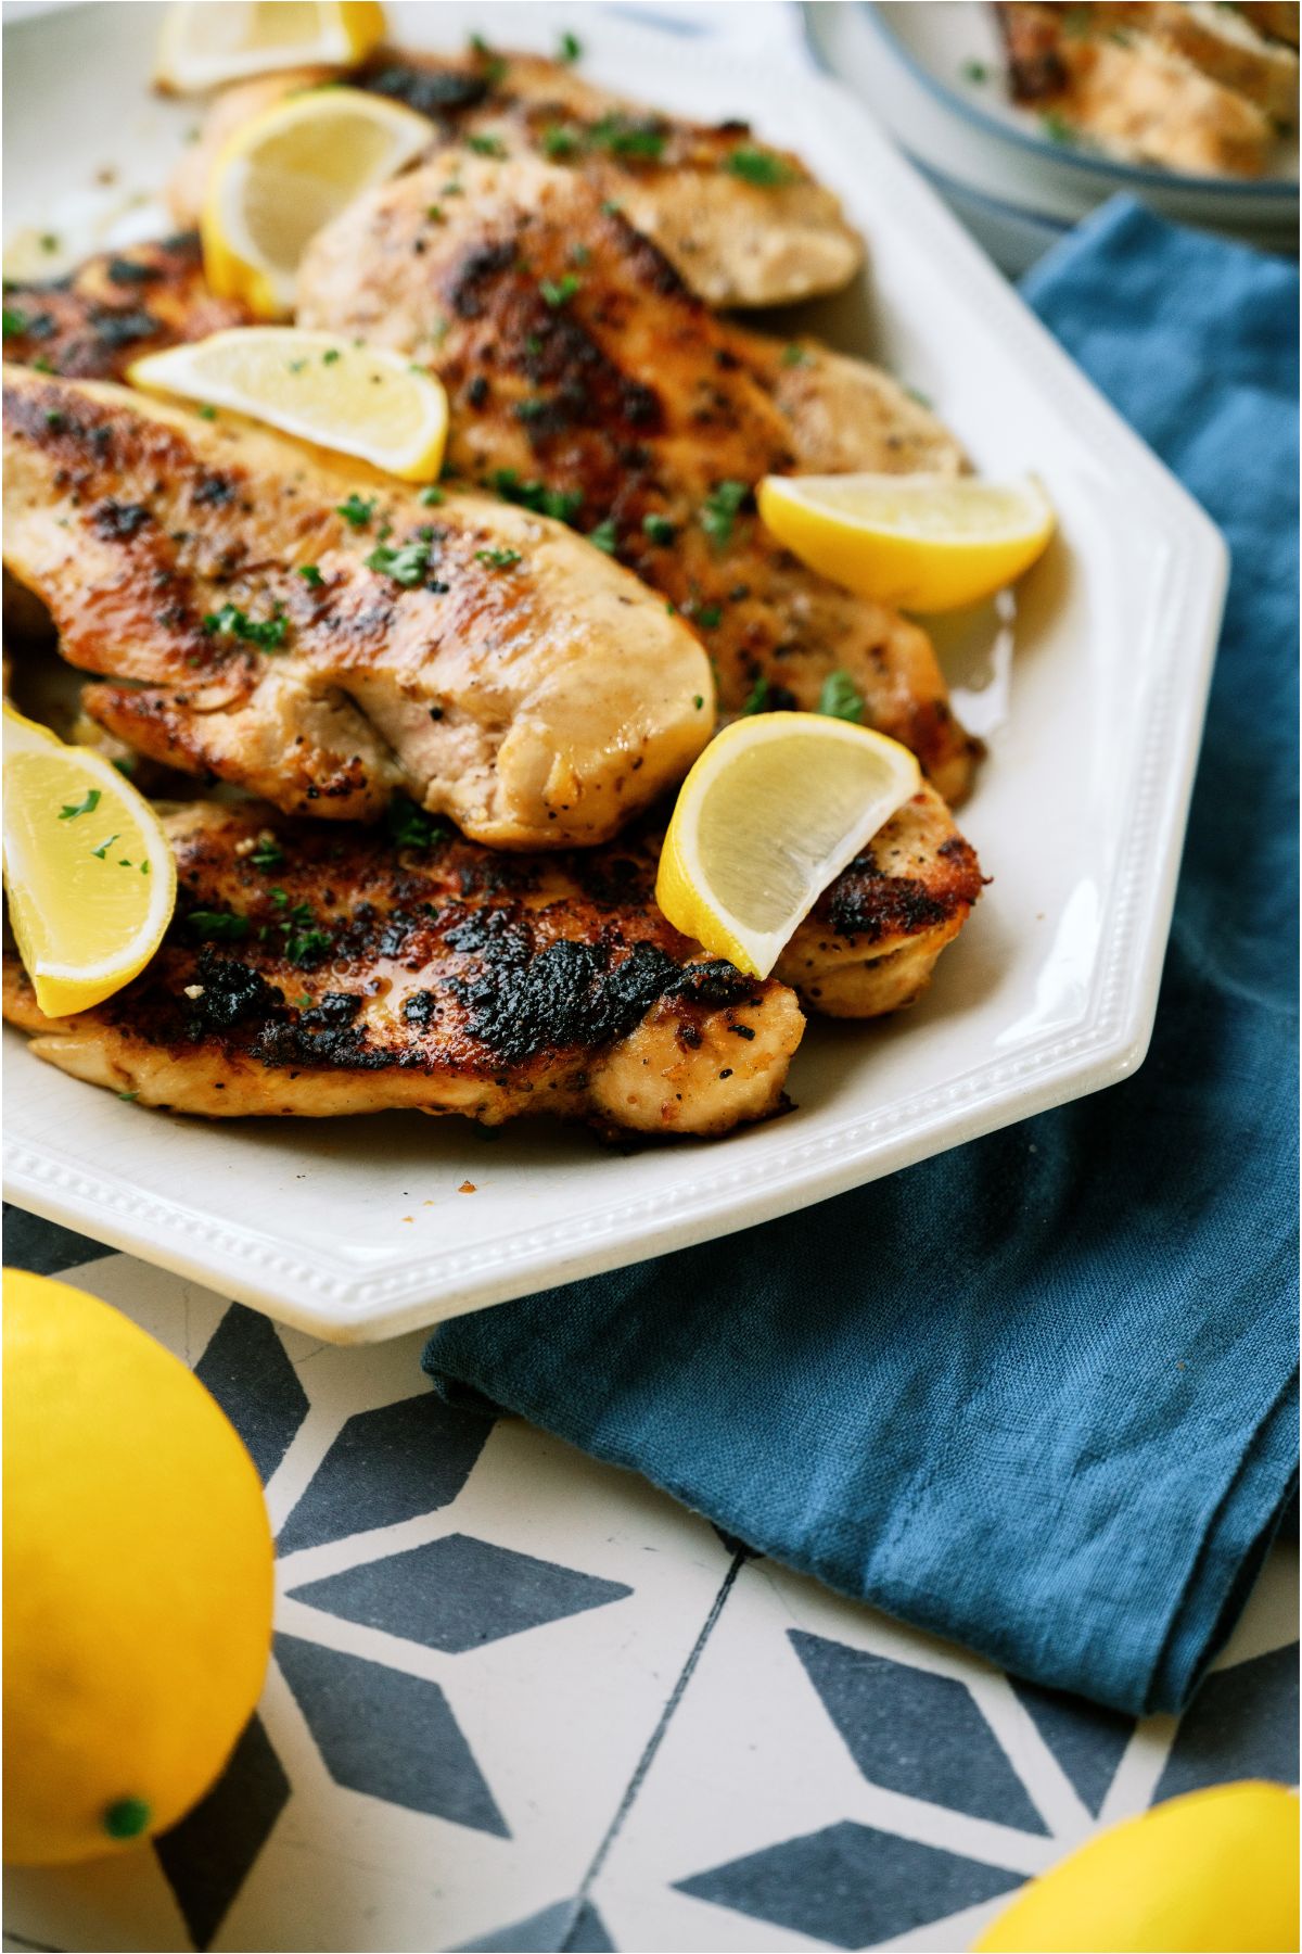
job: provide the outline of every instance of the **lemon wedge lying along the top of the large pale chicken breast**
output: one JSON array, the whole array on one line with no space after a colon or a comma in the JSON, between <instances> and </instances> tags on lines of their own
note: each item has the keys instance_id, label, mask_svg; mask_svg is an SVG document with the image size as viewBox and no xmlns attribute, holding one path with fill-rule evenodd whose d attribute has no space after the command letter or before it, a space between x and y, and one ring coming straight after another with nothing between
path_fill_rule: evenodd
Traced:
<instances>
[{"instance_id":1,"label":"lemon wedge lying along the top of the large pale chicken breast","mask_svg":"<svg viewBox=\"0 0 1302 1954\"><path fill-rule=\"evenodd\" d=\"M234 326L146 354L127 377L361 455L408 483L433 481L443 465L443 385L383 346L297 326Z\"/></svg>"}]
</instances>

